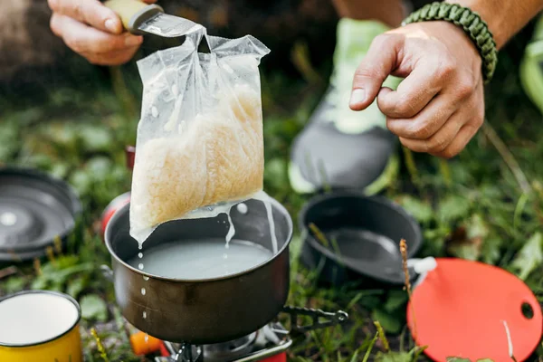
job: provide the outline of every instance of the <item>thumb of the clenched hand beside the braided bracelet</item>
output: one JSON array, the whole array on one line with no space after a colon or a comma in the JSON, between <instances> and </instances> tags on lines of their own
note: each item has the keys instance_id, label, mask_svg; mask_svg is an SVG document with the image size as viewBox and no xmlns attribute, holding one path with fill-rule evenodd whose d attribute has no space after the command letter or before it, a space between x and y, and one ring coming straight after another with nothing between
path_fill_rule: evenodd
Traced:
<instances>
[{"instance_id":1,"label":"thumb of the clenched hand beside the braided bracelet","mask_svg":"<svg viewBox=\"0 0 543 362\"><path fill-rule=\"evenodd\" d=\"M371 43L355 71L349 100L351 110L366 110L375 100L386 77L396 68L397 54L403 39L403 36L385 33L377 36Z\"/></svg>"}]
</instances>

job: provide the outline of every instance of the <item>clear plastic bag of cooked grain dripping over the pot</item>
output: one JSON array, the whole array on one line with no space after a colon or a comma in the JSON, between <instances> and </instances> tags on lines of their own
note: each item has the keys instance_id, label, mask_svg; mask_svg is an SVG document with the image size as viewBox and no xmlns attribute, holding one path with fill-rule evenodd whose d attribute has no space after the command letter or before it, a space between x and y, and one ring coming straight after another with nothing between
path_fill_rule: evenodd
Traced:
<instances>
[{"instance_id":1,"label":"clear plastic bag of cooked grain dripping over the pot","mask_svg":"<svg viewBox=\"0 0 543 362\"><path fill-rule=\"evenodd\" d=\"M210 53L197 52L205 40ZM262 191L258 65L270 50L250 35L187 34L181 46L138 62L141 119L130 200L130 235L159 224L214 217Z\"/></svg>"}]
</instances>

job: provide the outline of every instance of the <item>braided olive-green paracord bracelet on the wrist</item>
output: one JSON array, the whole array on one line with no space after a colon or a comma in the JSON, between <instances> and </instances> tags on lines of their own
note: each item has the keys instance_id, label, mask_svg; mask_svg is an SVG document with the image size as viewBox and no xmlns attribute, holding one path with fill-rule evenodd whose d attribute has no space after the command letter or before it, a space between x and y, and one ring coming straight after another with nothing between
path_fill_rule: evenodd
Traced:
<instances>
[{"instance_id":1,"label":"braided olive-green paracord bracelet on the wrist","mask_svg":"<svg viewBox=\"0 0 543 362\"><path fill-rule=\"evenodd\" d=\"M491 81L498 62L498 50L492 33L488 25L481 19L481 16L468 7L434 2L424 5L407 16L402 25L433 20L444 20L462 27L481 54L481 71L484 82Z\"/></svg>"}]
</instances>

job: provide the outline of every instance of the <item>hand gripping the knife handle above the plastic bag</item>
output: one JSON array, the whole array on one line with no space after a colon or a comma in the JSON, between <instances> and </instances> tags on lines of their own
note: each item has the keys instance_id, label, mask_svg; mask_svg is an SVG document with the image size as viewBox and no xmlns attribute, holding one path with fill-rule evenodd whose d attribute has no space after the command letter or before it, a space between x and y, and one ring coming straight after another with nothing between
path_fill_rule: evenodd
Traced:
<instances>
[{"instance_id":1,"label":"hand gripping the knife handle above the plastic bag","mask_svg":"<svg viewBox=\"0 0 543 362\"><path fill-rule=\"evenodd\" d=\"M48 3L52 10L52 33L93 64L129 62L143 42L141 36L123 33L119 16L98 0L48 0Z\"/></svg>"}]
</instances>

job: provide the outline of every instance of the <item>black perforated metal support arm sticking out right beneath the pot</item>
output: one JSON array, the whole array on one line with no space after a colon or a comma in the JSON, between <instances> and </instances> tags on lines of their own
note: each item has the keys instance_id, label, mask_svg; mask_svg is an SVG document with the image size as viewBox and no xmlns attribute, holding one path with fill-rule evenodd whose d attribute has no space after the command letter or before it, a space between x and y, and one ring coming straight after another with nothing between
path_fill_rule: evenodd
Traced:
<instances>
[{"instance_id":1,"label":"black perforated metal support arm sticking out right beneath the pot","mask_svg":"<svg viewBox=\"0 0 543 362\"><path fill-rule=\"evenodd\" d=\"M337 312L328 312L324 310L314 310L310 308L298 308L285 306L282 308L284 313L291 316L291 330L299 333L305 333L310 330L323 329L337 326L348 319L347 312L338 310ZM311 324L306 326L298 325L298 316L310 317ZM321 319L325 319L322 321Z\"/></svg>"}]
</instances>

